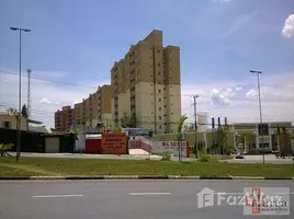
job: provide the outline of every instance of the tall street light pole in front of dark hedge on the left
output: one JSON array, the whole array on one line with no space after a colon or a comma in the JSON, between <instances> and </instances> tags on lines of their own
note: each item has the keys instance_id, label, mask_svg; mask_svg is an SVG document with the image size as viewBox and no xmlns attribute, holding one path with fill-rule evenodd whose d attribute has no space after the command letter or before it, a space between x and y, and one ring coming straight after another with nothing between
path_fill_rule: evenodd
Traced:
<instances>
[{"instance_id":1,"label":"tall street light pole in front of dark hedge on the left","mask_svg":"<svg viewBox=\"0 0 294 219\"><path fill-rule=\"evenodd\" d=\"M29 28L21 28L21 27L10 27L11 31L19 31L20 33L20 79L19 79L19 116L18 116L18 138L16 138L16 161L19 161L21 155L21 125L22 125L22 32L31 32Z\"/></svg>"}]
</instances>

